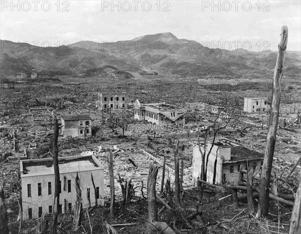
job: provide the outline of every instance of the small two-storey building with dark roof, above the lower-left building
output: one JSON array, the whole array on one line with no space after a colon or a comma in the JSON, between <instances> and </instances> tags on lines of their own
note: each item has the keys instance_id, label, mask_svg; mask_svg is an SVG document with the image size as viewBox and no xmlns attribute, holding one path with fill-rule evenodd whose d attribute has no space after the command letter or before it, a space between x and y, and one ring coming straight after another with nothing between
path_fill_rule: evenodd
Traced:
<instances>
[{"instance_id":1,"label":"small two-storey building with dark roof, above the lower-left building","mask_svg":"<svg viewBox=\"0 0 301 234\"><path fill-rule=\"evenodd\" d=\"M63 136L90 136L92 120L88 115L68 115L62 116Z\"/></svg>"}]
</instances>

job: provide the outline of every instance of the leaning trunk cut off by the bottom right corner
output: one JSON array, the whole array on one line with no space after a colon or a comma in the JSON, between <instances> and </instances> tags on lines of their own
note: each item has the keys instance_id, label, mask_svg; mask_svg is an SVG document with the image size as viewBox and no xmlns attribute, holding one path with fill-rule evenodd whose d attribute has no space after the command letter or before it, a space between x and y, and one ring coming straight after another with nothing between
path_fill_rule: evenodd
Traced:
<instances>
[{"instance_id":1,"label":"leaning trunk cut off by the bottom right corner","mask_svg":"<svg viewBox=\"0 0 301 234\"><path fill-rule=\"evenodd\" d=\"M289 234L301 233L301 170L299 172L299 185L290 218Z\"/></svg>"}]
</instances>

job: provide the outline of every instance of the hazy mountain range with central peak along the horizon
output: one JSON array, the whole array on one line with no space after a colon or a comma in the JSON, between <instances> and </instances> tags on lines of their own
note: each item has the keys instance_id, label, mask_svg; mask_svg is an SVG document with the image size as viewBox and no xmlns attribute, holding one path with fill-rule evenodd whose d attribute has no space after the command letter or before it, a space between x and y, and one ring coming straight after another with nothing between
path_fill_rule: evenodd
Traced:
<instances>
[{"instance_id":1,"label":"hazy mountain range with central peak along the horizon","mask_svg":"<svg viewBox=\"0 0 301 234\"><path fill-rule=\"evenodd\" d=\"M98 75L104 70L158 71L176 77L242 75L271 72L277 51L211 49L201 43L179 39L171 32L143 35L115 42L79 41L68 46L39 47L0 40L1 73L27 72L35 67L56 74ZM300 51L287 51L285 69L300 75Z\"/></svg>"}]
</instances>

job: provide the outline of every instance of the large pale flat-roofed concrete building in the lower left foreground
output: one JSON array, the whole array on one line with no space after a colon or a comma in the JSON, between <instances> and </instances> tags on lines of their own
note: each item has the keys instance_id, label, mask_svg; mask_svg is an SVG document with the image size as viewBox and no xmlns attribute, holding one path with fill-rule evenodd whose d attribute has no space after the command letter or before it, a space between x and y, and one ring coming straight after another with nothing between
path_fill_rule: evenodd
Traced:
<instances>
[{"instance_id":1,"label":"large pale flat-roofed concrete building in the lower left foreground","mask_svg":"<svg viewBox=\"0 0 301 234\"><path fill-rule=\"evenodd\" d=\"M103 205L103 164L94 155L59 157L60 201L58 212L72 211L76 201L75 178L80 178L83 207ZM51 213L54 202L53 158L27 159L20 161L23 219ZM96 187L91 180L91 173Z\"/></svg>"}]
</instances>

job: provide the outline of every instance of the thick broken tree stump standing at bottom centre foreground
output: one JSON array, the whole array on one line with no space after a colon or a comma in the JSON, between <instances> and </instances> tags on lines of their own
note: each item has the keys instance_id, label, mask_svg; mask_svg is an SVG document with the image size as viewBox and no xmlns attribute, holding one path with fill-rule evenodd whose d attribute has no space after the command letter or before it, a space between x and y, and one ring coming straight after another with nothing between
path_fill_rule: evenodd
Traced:
<instances>
[{"instance_id":1,"label":"thick broken tree stump standing at bottom centre foreground","mask_svg":"<svg viewBox=\"0 0 301 234\"><path fill-rule=\"evenodd\" d=\"M148 201L148 221L158 221L157 197L156 197L156 180L158 174L158 165L150 162L147 177L147 201Z\"/></svg>"}]
</instances>

